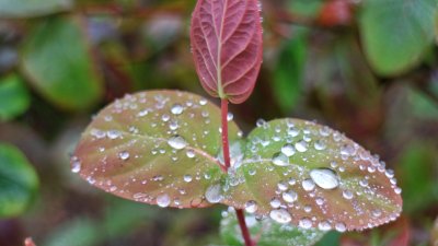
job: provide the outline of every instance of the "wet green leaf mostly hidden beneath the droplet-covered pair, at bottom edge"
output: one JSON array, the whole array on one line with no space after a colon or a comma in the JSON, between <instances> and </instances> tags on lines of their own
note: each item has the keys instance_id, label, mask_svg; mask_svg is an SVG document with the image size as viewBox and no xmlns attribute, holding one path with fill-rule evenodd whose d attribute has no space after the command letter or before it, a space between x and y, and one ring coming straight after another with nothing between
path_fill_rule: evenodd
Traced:
<instances>
[{"instance_id":1,"label":"wet green leaf mostly hidden beneath the droplet-covered pair, at bottom edge","mask_svg":"<svg viewBox=\"0 0 438 246\"><path fill-rule=\"evenodd\" d=\"M234 210L223 212L220 235L227 246L243 246L243 238ZM270 219L257 221L255 215L245 215L252 238L257 238L257 246L308 246L316 243L324 235L318 230L303 230L289 224L279 224Z\"/></svg>"}]
</instances>

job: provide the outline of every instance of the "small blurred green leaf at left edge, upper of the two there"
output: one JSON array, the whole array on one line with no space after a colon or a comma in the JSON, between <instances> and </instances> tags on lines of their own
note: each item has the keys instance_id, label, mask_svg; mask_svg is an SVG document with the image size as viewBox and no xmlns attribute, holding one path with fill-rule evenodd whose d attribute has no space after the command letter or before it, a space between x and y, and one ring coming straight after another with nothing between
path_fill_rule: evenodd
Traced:
<instances>
[{"instance_id":1,"label":"small blurred green leaf at left edge, upper of the two there","mask_svg":"<svg viewBox=\"0 0 438 246\"><path fill-rule=\"evenodd\" d=\"M0 121L23 114L30 106L30 95L22 80L8 75L0 80Z\"/></svg>"}]
</instances>

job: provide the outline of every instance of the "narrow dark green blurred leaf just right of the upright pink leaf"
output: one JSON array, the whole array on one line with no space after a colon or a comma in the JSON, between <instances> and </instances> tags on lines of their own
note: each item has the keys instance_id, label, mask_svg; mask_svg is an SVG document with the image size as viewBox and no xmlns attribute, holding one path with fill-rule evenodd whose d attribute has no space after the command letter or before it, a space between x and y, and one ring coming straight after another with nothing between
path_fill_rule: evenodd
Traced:
<instances>
[{"instance_id":1,"label":"narrow dark green blurred leaf just right of the upright pink leaf","mask_svg":"<svg viewBox=\"0 0 438 246\"><path fill-rule=\"evenodd\" d=\"M274 94L283 112L288 113L302 95L307 57L307 30L296 30L293 39L285 44L274 71Z\"/></svg>"}]
</instances>

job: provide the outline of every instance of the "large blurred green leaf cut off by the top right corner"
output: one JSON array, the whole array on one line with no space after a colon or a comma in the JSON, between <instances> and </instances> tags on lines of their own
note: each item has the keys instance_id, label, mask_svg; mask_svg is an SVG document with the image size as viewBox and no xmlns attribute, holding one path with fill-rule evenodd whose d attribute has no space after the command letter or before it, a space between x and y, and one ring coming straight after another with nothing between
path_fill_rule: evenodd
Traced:
<instances>
[{"instance_id":1,"label":"large blurred green leaf cut off by the top right corner","mask_svg":"<svg viewBox=\"0 0 438 246\"><path fill-rule=\"evenodd\" d=\"M371 67L397 75L417 66L434 42L436 0L367 0L360 32Z\"/></svg>"}]
</instances>

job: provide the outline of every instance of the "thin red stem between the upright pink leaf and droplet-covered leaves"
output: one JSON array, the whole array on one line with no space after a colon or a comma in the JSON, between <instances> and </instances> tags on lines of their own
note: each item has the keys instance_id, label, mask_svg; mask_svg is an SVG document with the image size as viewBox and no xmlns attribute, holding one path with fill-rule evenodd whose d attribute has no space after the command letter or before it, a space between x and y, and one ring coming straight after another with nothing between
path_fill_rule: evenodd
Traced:
<instances>
[{"instance_id":1,"label":"thin red stem between the upright pink leaf and droplet-covered leaves","mask_svg":"<svg viewBox=\"0 0 438 246\"><path fill-rule=\"evenodd\" d=\"M221 122L222 122L222 149L223 149L223 162L226 164L226 169L230 168L230 142L228 140L228 101L221 99ZM238 221L240 230L242 231L243 239L245 241L245 246L255 246L251 239L250 231L247 230L245 222L245 214L243 210L237 209L235 214L238 215Z\"/></svg>"}]
</instances>

